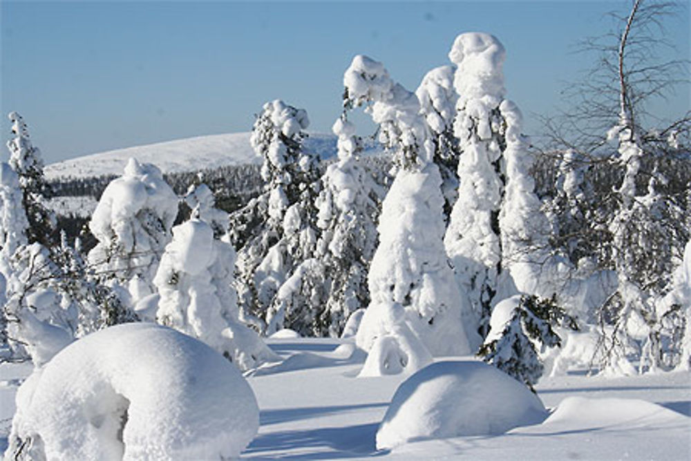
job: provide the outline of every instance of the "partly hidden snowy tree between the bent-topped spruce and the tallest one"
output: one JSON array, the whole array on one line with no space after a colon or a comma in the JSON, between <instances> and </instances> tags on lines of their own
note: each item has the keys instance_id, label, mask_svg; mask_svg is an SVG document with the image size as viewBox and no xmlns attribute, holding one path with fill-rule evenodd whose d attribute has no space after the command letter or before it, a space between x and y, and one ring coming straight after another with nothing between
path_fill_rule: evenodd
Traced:
<instances>
[{"instance_id":1,"label":"partly hidden snowy tree between the bent-topped spruce and the tallest one","mask_svg":"<svg viewBox=\"0 0 691 461\"><path fill-rule=\"evenodd\" d=\"M444 218L448 223L453 204L458 198L458 140L453 134L458 94L453 86L454 66L433 68L422 78L415 91L420 109L432 132L435 144L434 161L442 173Z\"/></svg>"}]
</instances>

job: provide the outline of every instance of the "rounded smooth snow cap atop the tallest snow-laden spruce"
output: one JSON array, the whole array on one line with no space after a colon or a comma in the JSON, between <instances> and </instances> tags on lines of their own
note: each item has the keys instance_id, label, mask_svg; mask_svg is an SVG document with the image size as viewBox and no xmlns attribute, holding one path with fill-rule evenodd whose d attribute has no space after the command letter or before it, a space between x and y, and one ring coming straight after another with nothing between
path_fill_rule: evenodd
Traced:
<instances>
[{"instance_id":1,"label":"rounded smooth snow cap atop the tallest snow-laden spruce","mask_svg":"<svg viewBox=\"0 0 691 461\"><path fill-rule=\"evenodd\" d=\"M448 59L458 70L454 86L463 101L493 97L498 104L504 97L504 58L506 50L493 35L466 32L456 37Z\"/></svg>"}]
</instances>

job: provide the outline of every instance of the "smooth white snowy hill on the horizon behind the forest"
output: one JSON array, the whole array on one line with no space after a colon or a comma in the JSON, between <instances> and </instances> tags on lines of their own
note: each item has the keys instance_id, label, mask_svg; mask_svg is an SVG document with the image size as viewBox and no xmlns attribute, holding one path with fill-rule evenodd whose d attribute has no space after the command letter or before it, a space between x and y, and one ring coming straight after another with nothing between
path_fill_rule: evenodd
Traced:
<instances>
[{"instance_id":1,"label":"smooth white snowy hill on the horizon behind the forest","mask_svg":"<svg viewBox=\"0 0 691 461\"><path fill-rule=\"evenodd\" d=\"M259 163L261 158L255 155L249 145L249 135L246 132L198 136L94 153L47 165L46 178L120 175L125 162L131 157L140 162L153 163L164 173ZM305 150L316 153L322 159L330 158L336 154L336 137L310 133L305 140Z\"/></svg>"}]
</instances>

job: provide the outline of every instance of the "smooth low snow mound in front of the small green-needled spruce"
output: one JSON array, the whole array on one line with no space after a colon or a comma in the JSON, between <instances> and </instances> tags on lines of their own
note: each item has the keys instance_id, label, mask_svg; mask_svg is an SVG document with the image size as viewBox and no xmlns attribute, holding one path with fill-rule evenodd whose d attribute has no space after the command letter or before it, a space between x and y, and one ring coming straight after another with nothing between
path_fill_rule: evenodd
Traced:
<instances>
[{"instance_id":1,"label":"smooth low snow mound in front of the small green-needled spruce","mask_svg":"<svg viewBox=\"0 0 691 461\"><path fill-rule=\"evenodd\" d=\"M518 381L480 361L441 361L396 390L377 431L377 449L459 435L496 435L538 424L547 411Z\"/></svg>"}]
</instances>

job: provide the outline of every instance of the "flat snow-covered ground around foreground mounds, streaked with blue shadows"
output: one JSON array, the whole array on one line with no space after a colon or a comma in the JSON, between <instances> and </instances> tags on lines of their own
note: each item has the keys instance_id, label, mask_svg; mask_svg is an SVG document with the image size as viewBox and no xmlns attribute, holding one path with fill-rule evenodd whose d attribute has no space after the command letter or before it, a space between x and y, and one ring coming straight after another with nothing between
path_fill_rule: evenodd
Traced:
<instances>
[{"instance_id":1,"label":"flat snow-covered ground around foreground mounds, streaked with blue shadows","mask_svg":"<svg viewBox=\"0 0 691 461\"><path fill-rule=\"evenodd\" d=\"M356 377L365 357L343 340L284 338L268 343L285 361L247 377L261 425L243 458L691 458L689 373L605 379L575 370L536 386L551 412L542 424L503 435L419 440L377 451L379 423L405 375ZM17 386L30 370L29 364L0 366L0 449L7 445Z\"/></svg>"}]
</instances>

